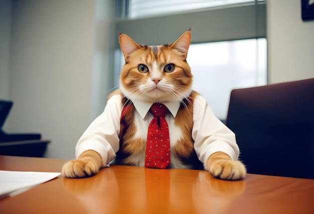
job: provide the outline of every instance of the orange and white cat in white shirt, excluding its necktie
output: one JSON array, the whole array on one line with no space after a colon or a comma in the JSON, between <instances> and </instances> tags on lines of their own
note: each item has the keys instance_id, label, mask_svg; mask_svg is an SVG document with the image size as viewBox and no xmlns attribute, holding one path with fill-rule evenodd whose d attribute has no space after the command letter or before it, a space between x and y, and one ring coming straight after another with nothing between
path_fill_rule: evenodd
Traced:
<instances>
[{"instance_id":1,"label":"orange and white cat in white shirt, excluding its necktie","mask_svg":"<svg viewBox=\"0 0 314 214\"><path fill-rule=\"evenodd\" d=\"M187 31L174 43L146 46L126 34L119 36L125 64L120 89L109 95L104 112L86 129L76 146L77 159L62 168L67 177L84 177L111 164L144 166L147 129L154 102L169 112L171 164L176 168L207 169L221 179L243 179L234 133L192 90L186 61L191 42Z\"/></svg>"}]
</instances>

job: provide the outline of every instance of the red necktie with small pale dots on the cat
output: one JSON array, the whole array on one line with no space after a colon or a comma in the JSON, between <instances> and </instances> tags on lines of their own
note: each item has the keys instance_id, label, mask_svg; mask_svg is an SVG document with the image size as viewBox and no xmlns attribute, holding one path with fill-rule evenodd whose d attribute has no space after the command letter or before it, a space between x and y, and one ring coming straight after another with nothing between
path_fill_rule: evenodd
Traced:
<instances>
[{"instance_id":1,"label":"red necktie with small pale dots on the cat","mask_svg":"<svg viewBox=\"0 0 314 214\"><path fill-rule=\"evenodd\" d=\"M168 108L162 103L153 103L150 107L154 117L148 126L145 167L166 168L170 164L169 129L165 119L167 111Z\"/></svg>"}]
</instances>

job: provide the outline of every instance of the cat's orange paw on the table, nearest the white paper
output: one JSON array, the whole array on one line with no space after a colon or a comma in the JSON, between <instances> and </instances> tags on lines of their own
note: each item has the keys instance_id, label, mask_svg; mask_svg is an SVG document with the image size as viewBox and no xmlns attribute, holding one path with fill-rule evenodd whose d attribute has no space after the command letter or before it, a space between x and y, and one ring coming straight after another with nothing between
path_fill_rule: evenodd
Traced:
<instances>
[{"instance_id":1,"label":"cat's orange paw on the table, nearest the white paper","mask_svg":"<svg viewBox=\"0 0 314 214\"><path fill-rule=\"evenodd\" d=\"M93 159L76 159L66 162L62 167L65 177L79 178L96 174L99 170L98 164Z\"/></svg>"}]
</instances>

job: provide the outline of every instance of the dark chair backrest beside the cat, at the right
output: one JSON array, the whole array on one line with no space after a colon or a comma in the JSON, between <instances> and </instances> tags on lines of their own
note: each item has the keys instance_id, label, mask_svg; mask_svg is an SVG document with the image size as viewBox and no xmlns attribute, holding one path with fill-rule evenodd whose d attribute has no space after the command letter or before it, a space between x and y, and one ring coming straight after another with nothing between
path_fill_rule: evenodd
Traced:
<instances>
[{"instance_id":1,"label":"dark chair backrest beside the cat, at the right","mask_svg":"<svg viewBox=\"0 0 314 214\"><path fill-rule=\"evenodd\" d=\"M314 78L232 90L226 125L248 173L314 178Z\"/></svg>"}]
</instances>

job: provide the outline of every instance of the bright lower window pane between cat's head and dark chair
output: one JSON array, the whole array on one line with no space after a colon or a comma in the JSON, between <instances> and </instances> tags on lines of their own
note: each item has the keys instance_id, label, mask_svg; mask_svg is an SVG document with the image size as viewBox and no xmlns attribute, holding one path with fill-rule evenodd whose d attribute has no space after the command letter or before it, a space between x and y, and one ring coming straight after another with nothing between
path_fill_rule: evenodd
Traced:
<instances>
[{"instance_id":1,"label":"bright lower window pane between cat's head and dark chair","mask_svg":"<svg viewBox=\"0 0 314 214\"><path fill-rule=\"evenodd\" d=\"M265 38L191 44L187 61L194 75L193 89L222 121L232 89L267 82Z\"/></svg>"}]
</instances>

